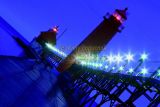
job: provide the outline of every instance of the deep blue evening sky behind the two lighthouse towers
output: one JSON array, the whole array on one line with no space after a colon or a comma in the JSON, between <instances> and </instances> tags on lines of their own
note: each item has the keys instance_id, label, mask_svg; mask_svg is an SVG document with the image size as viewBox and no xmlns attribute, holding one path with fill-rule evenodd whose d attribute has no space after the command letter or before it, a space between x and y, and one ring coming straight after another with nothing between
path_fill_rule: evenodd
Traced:
<instances>
[{"instance_id":1,"label":"deep blue evening sky behind the two lighthouse towers","mask_svg":"<svg viewBox=\"0 0 160 107\"><path fill-rule=\"evenodd\" d=\"M67 31L57 46L75 47L107 12L125 7L128 7L125 29L115 35L103 53L131 51L139 55L145 51L151 62L159 61L159 0L0 0L0 15L28 41L40 31L59 25L59 35Z\"/></svg>"}]
</instances>

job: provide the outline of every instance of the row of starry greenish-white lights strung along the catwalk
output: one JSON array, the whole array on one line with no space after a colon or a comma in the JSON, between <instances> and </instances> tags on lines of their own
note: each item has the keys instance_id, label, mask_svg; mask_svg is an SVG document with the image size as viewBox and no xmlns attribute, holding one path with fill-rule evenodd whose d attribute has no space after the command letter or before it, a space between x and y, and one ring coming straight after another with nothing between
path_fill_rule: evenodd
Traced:
<instances>
[{"instance_id":1,"label":"row of starry greenish-white lights strung along the catwalk","mask_svg":"<svg viewBox=\"0 0 160 107\"><path fill-rule=\"evenodd\" d=\"M63 57L67 57L67 54L65 54L64 52L60 51L59 49L57 49L56 47L52 46L49 43L45 44L47 46L47 48L49 48L50 50L54 51L55 53L59 54L60 56ZM121 56L120 54L113 56L112 54L110 54L107 57L102 57L103 59L100 60L100 58L96 55L89 55L87 58L84 57L85 55L82 56L77 56L76 57L76 62L79 62L77 64L81 64L83 66L89 67L89 68L95 68L95 69L105 69L107 70L108 68L110 68L109 65L105 64L105 59L107 59L107 61L111 64L113 62L116 62L117 64L120 64L121 62L123 62L123 59L127 60L127 62L131 62L134 60L134 55L131 54L130 52L124 56ZM96 61L95 61L96 59ZM146 54L145 52L141 54L140 59L142 61L145 61L148 59L148 54ZM100 60L99 62L97 62L98 60ZM105 66L103 66L105 65ZM111 67L111 71L115 70L115 66ZM119 71L124 71L124 66L120 66L118 68ZM131 74L134 72L134 69L131 67L128 69L127 73ZM143 67L141 69L141 71L137 74L137 75L146 75L148 74L148 69L146 67ZM157 77L160 77L160 69L158 69Z\"/></svg>"}]
</instances>

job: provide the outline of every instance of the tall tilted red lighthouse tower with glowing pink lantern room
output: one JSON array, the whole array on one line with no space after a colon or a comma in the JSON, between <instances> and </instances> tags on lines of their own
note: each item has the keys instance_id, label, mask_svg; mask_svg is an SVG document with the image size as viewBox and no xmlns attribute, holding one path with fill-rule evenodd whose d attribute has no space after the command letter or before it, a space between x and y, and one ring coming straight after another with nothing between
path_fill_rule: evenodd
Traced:
<instances>
[{"instance_id":1,"label":"tall tilted red lighthouse tower with glowing pink lantern room","mask_svg":"<svg viewBox=\"0 0 160 107\"><path fill-rule=\"evenodd\" d=\"M115 12L109 16L104 17L104 20L95 28L88 36L74 49L68 57L63 60L57 70L63 72L75 63L75 57L80 54L94 53L98 54L106 44L119 32L119 27L127 20L127 8L124 10L116 9Z\"/></svg>"}]
</instances>

